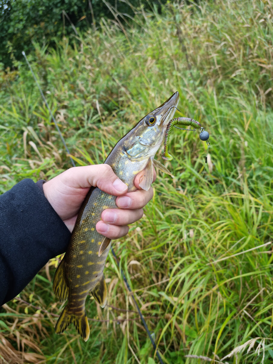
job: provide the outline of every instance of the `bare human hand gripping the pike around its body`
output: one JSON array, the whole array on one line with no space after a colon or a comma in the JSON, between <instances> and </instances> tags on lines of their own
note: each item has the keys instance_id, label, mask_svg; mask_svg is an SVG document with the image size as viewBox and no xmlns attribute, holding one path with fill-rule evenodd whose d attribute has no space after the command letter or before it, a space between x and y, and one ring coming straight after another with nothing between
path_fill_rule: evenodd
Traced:
<instances>
[{"instance_id":1,"label":"bare human hand gripping the pike around its body","mask_svg":"<svg viewBox=\"0 0 273 364\"><path fill-rule=\"evenodd\" d=\"M153 182L156 179L154 172ZM65 225L72 232L77 214L90 187L99 187L102 191L118 196L117 206L120 209L106 209L102 220L97 222L97 232L110 238L117 239L125 236L131 224L143 215L143 207L153 197L153 189L144 191L139 186L136 175L134 192L127 192L123 183L107 164L86 167L73 167L43 184L44 195Z\"/></svg>"}]
</instances>

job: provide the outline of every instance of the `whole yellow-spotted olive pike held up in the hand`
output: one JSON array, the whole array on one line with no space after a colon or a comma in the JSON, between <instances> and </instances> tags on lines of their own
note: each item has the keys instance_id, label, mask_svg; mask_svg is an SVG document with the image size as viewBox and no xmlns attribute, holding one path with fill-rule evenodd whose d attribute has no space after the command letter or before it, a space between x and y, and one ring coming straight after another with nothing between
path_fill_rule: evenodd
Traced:
<instances>
[{"instance_id":1,"label":"whole yellow-spotted olive pike held up in the hand","mask_svg":"<svg viewBox=\"0 0 273 364\"><path fill-rule=\"evenodd\" d=\"M135 191L134 179L141 174L140 187L148 190L153 179L153 165L171 173L154 159L166 128L175 112L179 94L175 92L161 106L149 112L113 147L106 158L115 174ZM173 177L173 176L172 176ZM62 333L73 323L80 336L87 341L90 334L85 300L92 293L104 307L107 287L103 275L111 240L97 233L96 223L105 209L117 208L116 196L92 187L80 208L71 240L53 281L53 290L61 302L68 303L57 321L55 332Z\"/></svg>"}]
</instances>

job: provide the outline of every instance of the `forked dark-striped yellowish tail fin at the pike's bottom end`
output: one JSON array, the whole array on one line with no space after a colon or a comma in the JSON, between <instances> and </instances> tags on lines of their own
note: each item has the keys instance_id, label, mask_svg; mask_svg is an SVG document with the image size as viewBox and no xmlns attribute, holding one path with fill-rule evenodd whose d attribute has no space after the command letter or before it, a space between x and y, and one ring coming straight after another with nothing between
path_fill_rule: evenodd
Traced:
<instances>
[{"instance_id":1,"label":"forked dark-striped yellowish tail fin at the pike's bottom end","mask_svg":"<svg viewBox=\"0 0 273 364\"><path fill-rule=\"evenodd\" d=\"M69 312L69 307L65 306L55 326L56 334L64 332L71 323L76 327L84 341L87 341L89 339L90 329L85 309L83 309L81 313L75 314L73 312Z\"/></svg>"}]
</instances>

